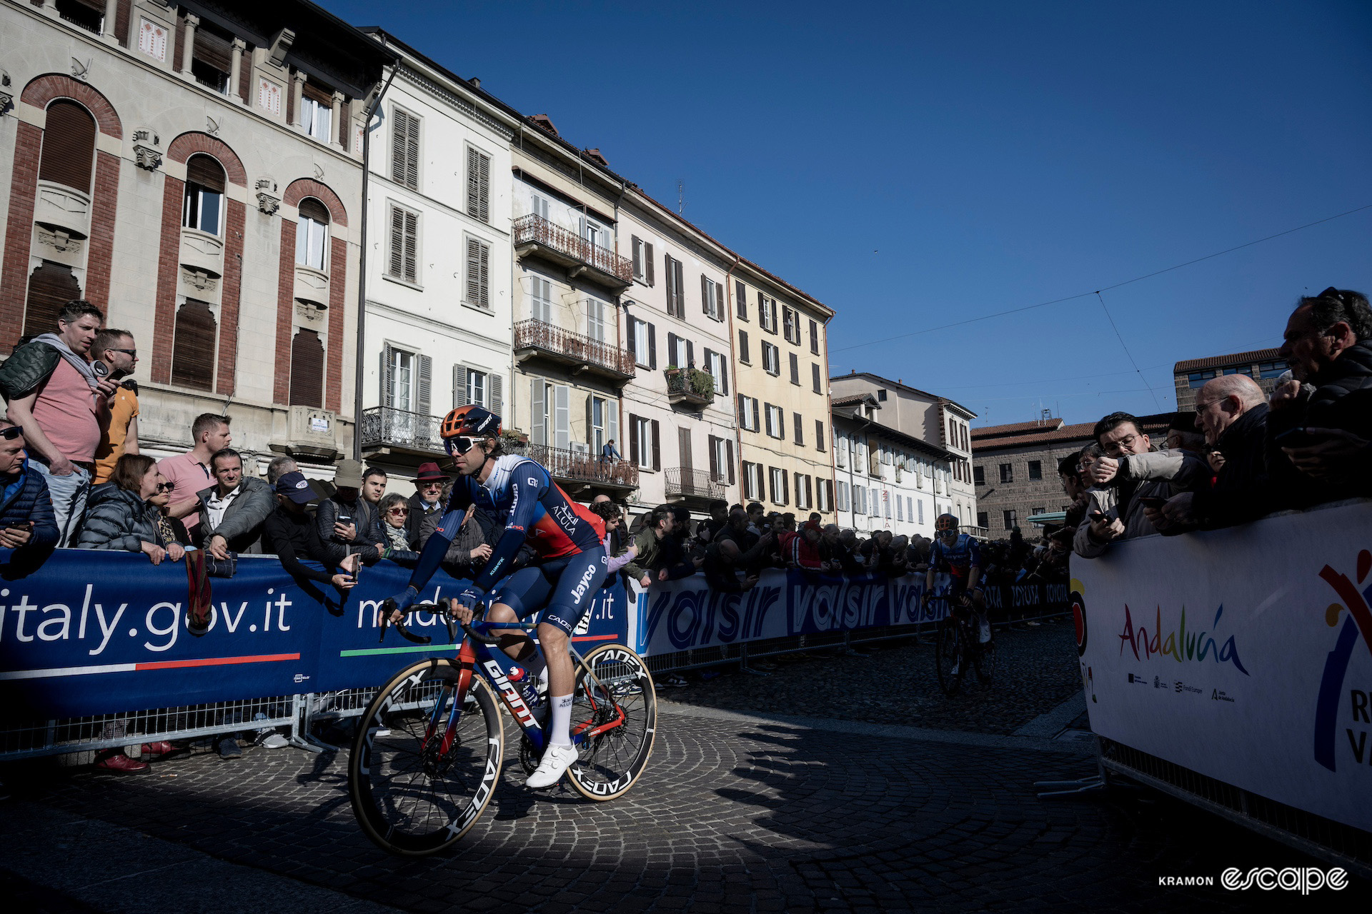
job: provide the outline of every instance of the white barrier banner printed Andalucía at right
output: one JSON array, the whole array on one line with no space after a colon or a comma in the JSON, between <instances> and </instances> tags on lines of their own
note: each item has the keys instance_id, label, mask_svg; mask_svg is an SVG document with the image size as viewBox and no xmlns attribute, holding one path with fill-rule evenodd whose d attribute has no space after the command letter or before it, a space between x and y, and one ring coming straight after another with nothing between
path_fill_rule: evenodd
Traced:
<instances>
[{"instance_id":1,"label":"white barrier banner printed Andaluc\u00eda at right","mask_svg":"<svg viewBox=\"0 0 1372 914\"><path fill-rule=\"evenodd\" d=\"M1073 558L1091 728L1372 830L1372 503Z\"/></svg>"}]
</instances>

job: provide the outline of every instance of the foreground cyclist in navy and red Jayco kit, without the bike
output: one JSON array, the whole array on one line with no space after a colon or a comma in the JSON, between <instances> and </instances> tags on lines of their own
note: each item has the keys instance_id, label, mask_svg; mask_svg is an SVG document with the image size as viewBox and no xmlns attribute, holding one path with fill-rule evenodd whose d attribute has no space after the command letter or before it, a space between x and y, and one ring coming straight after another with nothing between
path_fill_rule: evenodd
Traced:
<instances>
[{"instance_id":1,"label":"foreground cyclist in navy and red Jayco kit, without the bike","mask_svg":"<svg viewBox=\"0 0 1372 914\"><path fill-rule=\"evenodd\" d=\"M495 595L487 614L491 622L514 622L546 607L538 625L542 662L523 630L493 629L491 633L531 674L541 676L546 663L552 706L546 729L549 745L525 784L534 789L547 788L576 761L569 732L575 678L568 644L605 578L605 523L567 497L538 462L504 452L498 415L479 406L457 407L443 418L442 436L460 475L438 529L420 552L409 586L391 597L391 619L403 618L418 599L447 554L469 504L505 519L505 533L491 549L486 569L449 602L449 611L469 622L473 607L487 593ZM509 573L510 562L525 541L534 547L535 565Z\"/></svg>"}]
</instances>

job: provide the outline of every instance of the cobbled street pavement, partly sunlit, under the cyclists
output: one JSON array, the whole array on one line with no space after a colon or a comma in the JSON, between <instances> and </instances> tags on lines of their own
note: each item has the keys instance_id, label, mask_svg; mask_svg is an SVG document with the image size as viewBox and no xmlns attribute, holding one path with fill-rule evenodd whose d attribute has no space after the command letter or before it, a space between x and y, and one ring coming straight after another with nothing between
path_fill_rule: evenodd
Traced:
<instances>
[{"instance_id":1,"label":"cobbled street pavement, partly sunlit, under the cyclists","mask_svg":"<svg viewBox=\"0 0 1372 914\"><path fill-rule=\"evenodd\" d=\"M1032 658L1061 670L1062 650L1074 656L1065 629L997 636L1006 677L954 707L1028 688L1011 670ZM627 798L534 795L506 765L486 817L456 852L427 861L387 856L362 836L346 752L257 748L236 762L192 752L125 778L38 766L22 782L7 777L15 798L0 804L0 888L26 910L52 911L1157 914L1270 903L1220 888L1220 872L1310 863L1151 792L1036 799L1036 780L1095 771L1089 741L1072 739L1081 704L1070 689L1048 711L1024 719L1036 710L1025 707L996 726L844 713L864 692L895 688L893 670L914 677L929 659L927 645L907 644L663 689L653 761ZM855 671L847 692L844 669ZM805 696L778 700L788 681ZM707 707L749 692L761 696L752 708ZM826 695L833 714L814 715ZM1216 885L1159 885L1169 876Z\"/></svg>"}]
</instances>

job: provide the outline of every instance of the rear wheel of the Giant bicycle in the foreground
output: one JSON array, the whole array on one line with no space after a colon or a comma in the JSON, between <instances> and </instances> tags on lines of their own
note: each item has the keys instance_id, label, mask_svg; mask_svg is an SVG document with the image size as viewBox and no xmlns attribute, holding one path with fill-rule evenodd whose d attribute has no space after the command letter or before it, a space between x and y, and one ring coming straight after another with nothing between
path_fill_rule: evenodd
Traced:
<instances>
[{"instance_id":1,"label":"rear wheel of the Giant bicycle in the foreground","mask_svg":"<svg viewBox=\"0 0 1372 914\"><path fill-rule=\"evenodd\" d=\"M623 644L604 644L578 666L572 702L573 734L624 715L576 747L579 758L568 769L572 788L591 800L623 796L648 767L657 732L657 692L648 666Z\"/></svg>"}]
</instances>

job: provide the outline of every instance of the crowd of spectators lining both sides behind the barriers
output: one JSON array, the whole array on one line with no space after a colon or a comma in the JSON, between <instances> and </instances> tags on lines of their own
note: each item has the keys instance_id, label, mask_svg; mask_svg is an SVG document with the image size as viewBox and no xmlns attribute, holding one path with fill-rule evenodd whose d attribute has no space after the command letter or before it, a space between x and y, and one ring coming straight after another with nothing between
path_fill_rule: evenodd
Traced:
<instances>
[{"instance_id":1,"label":"crowd of spectators lining both sides behind the barriers","mask_svg":"<svg viewBox=\"0 0 1372 914\"><path fill-rule=\"evenodd\" d=\"M152 565L187 562L193 574L230 577L240 555L276 555L298 581L346 592L362 565L413 565L438 526L451 480L418 467L414 495L387 492L387 474L357 460L333 467L332 491L279 456L257 475L230 445L226 414L198 417L184 454L140 452L139 362L133 334L103 326L88 301L70 301L54 333L22 343L0 366L0 548L33 567L58 547L125 551ZM1270 399L1253 378L1220 375L1155 443L1125 412L1102 418L1095 443L1059 465L1072 500L1066 522L1029 544L1015 529L982 547L989 584L1061 581L1072 552L1103 555L1148 533L1180 534L1372 495L1372 311L1357 292L1301 297L1280 355L1290 366ZM617 458L613 443L606 458ZM860 536L819 514L768 512L761 503L715 502L691 522L661 504L628 523L597 496L611 574L641 586L696 574L742 592L766 569L899 577L929 567L932 541L878 530ZM501 521L468 512L443 560L475 578ZM527 563L531 551L514 562ZM193 615L193 614L192 614ZM192 623L195 619L192 618ZM118 758L125 758L119 755ZM123 762L107 758L107 767ZM137 766L137 762L128 759ZM125 766L128 767L128 766ZM132 769L130 769L132 770Z\"/></svg>"}]
</instances>

